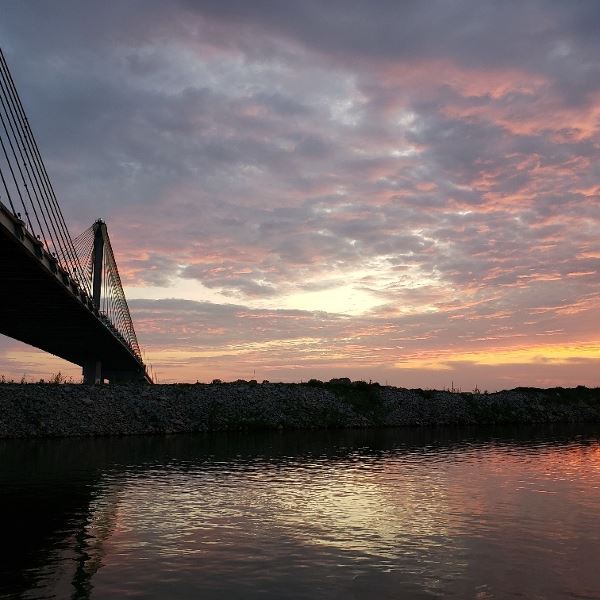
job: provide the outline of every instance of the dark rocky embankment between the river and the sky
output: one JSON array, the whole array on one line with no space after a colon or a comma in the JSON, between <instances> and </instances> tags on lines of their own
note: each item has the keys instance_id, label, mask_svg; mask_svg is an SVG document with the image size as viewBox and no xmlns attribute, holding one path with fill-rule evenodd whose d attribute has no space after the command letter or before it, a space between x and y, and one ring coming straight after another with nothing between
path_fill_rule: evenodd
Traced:
<instances>
[{"instance_id":1,"label":"dark rocky embankment between the river and the sky","mask_svg":"<svg viewBox=\"0 0 600 600\"><path fill-rule=\"evenodd\" d=\"M0 438L255 429L600 423L600 388L491 394L328 383L0 385Z\"/></svg>"}]
</instances>

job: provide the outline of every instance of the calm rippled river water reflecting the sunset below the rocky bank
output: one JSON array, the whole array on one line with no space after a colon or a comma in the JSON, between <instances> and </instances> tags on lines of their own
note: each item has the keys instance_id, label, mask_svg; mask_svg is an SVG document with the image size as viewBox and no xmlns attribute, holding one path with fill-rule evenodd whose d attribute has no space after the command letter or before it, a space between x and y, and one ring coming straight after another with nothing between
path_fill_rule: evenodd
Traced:
<instances>
[{"instance_id":1,"label":"calm rippled river water reflecting the sunset below the rocky bank","mask_svg":"<svg viewBox=\"0 0 600 600\"><path fill-rule=\"evenodd\" d=\"M600 429L0 442L3 598L600 599Z\"/></svg>"}]
</instances>

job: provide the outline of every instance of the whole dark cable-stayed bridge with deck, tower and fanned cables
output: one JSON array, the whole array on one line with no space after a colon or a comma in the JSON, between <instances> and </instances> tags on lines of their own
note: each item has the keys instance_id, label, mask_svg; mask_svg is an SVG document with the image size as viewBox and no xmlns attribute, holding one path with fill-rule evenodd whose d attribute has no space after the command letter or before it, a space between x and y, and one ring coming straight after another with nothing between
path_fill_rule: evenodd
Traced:
<instances>
[{"instance_id":1,"label":"whole dark cable-stayed bridge with deck, tower and fanned cables","mask_svg":"<svg viewBox=\"0 0 600 600\"><path fill-rule=\"evenodd\" d=\"M0 49L0 333L83 369L146 381L106 223L71 237Z\"/></svg>"}]
</instances>

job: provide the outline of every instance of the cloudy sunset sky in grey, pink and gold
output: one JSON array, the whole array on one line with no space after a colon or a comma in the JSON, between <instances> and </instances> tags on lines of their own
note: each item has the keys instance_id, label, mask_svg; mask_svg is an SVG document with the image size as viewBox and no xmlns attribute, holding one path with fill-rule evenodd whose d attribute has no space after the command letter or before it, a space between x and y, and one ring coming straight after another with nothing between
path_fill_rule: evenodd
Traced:
<instances>
[{"instance_id":1,"label":"cloudy sunset sky in grey, pink and gold","mask_svg":"<svg viewBox=\"0 0 600 600\"><path fill-rule=\"evenodd\" d=\"M0 41L160 381L600 385L600 3L3 0Z\"/></svg>"}]
</instances>

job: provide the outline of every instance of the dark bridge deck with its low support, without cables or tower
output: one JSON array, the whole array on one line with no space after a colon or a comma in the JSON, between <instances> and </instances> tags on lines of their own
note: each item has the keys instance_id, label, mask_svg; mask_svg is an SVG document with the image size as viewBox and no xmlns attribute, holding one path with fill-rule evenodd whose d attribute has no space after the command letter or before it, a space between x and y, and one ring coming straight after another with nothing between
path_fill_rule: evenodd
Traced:
<instances>
[{"instance_id":1,"label":"dark bridge deck with its low support, without cables or tower","mask_svg":"<svg viewBox=\"0 0 600 600\"><path fill-rule=\"evenodd\" d=\"M148 380L89 297L0 206L0 333L87 371L86 380Z\"/></svg>"}]
</instances>

